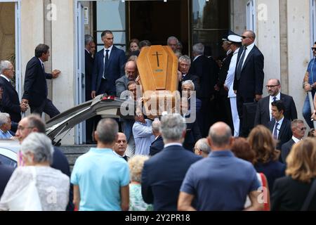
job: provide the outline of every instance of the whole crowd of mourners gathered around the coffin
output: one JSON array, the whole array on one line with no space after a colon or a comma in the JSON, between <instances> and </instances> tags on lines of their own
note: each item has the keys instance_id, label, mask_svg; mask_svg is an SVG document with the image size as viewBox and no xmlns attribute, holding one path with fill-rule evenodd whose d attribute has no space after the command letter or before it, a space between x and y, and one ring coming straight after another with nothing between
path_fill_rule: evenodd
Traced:
<instances>
[{"instance_id":1,"label":"whole crowd of mourners gathered around the coffin","mask_svg":"<svg viewBox=\"0 0 316 225\"><path fill-rule=\"evenodd\" d=\"M150 41L132 39L125 53L110 30L101 39L104 48L96 52L93 37L85 36L86 101L107 94L141 104L137 58ZM38 116L59 113L47 98L46 79L60 75L45 72L49 47L39 44L27 63L21 102L11 84L13 65L1 61L0 138L18 139L21 150L18 168L0 162L0 210L27 210L15 199L32 186L35 210L316 210L315 134L304 138L307 127L279 79L268 79L263 97L264 57L255 39L251 30L229 34L218 62L204 55L202 43L192 46L193 58L183 55L180 41L169 37L178 57L180 111L87 120L86 140L96 148L77 159L72 173ZM312 51L316 56L316 44ZM303 89L315 94L313 65ZM313 128L307 100L303 117ZM28 108L36 115L21 118Z\"/></svg>"}]
</instances>

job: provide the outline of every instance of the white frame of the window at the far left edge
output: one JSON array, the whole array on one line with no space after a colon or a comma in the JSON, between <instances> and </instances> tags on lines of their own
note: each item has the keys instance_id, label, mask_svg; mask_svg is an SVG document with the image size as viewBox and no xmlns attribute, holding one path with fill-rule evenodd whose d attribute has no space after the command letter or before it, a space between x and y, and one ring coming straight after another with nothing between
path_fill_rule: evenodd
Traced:
<instances>
[{"instance_id":1,"label":"white frame of the window at the far left edge","mask_svg":"<svg viewBox=\"0 0 316 225\"><path fill-rule=\"evenodd\" d=\"M15 3L15 89L22 98L22 65L21 65L21 1L0 0L0 3Z\"/></svg>"}]
</instances>

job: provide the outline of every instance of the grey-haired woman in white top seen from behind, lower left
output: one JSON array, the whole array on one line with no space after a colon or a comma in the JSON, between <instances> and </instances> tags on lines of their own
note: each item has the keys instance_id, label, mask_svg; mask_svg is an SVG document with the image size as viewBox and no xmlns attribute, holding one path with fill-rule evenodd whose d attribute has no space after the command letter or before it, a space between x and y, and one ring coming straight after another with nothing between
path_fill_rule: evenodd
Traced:
<instances>
[{"instance_id":1,"label":"grey-haired woman in white top seen from behind, lower left","mask_svg":"<svg viewBox=\"0 0 316 225\"><path fill-rule=\"evenodd\" d=\"M22 142L20 150L25 167L18 167L13 172L1 197L0 210L65 210L69 200L70 180L60 170L50 166L53 160L51 139L45 134L34 132ZM30 192L31 184L35 185ZM37 207L21 201L25 192L39 199ZM13 204L19 198L20 204Z\"/></svg>"}]
</instances>

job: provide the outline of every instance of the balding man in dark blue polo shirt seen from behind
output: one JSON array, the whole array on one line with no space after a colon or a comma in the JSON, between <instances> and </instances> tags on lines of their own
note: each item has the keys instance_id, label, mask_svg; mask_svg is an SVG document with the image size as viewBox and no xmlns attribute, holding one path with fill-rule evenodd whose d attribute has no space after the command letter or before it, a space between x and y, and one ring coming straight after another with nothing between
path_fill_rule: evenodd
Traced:
<instances>
[{"instance_id":1,"label":"balding man in dark blue polo shirt seen from behind","mask_svg":"<svg viewBox=\"0 0 316 225\"><path fill-rule=\"evenodd\" d=\"M250 162L236 158L230 151L232 132L224 122L213 124L208 137L208 158L190 166L180 188L178 210L244 210L246 196L251 206L245 210L262 210L258 202L260 184ZM196 200L196 209L191 206Z\"/></svg>"}]
</instances>

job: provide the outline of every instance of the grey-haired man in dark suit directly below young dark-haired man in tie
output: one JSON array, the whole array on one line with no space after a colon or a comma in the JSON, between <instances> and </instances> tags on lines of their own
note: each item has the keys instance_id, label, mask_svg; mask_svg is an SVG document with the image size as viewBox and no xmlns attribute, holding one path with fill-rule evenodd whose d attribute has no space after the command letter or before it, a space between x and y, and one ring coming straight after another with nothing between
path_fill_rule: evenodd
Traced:
<instances>
[{"instance_id":1,"label":"grey-haired man in dark suit directly below young dark-haired man in tie","mask_svg":"<svg viewBox=\"0 0 316 225\"><path fill-rule=\"evenodd\" d=\"M287 143L284 143L281 147L281 159L284 164L287 163L287 155L289 155L294 143L301 141L305 135L306 127L304 126L303 120L293 120L291 122L291 130L293 134L292 138Z\"/></svg>"}]
</instances>

